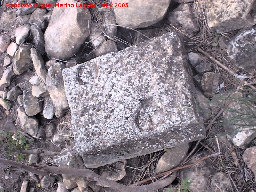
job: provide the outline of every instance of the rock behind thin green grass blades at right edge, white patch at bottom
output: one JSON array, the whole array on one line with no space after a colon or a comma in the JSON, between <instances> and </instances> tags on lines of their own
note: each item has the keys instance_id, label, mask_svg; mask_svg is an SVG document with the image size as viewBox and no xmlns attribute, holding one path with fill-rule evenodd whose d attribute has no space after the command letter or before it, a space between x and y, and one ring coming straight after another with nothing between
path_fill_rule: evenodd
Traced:
<instances>
[{"instance_id":1,"label":"rock behind thin green grass blades at right edge, white patch at bottom","mask_svg":"<svg viewBox=\"0 0 256 192\"><path fill-rule=\"evenodd\" d=\"M224 129L233 144L246 149L256 135L256 111L240 92L231 95L233 100L224 108Z\"/></svg>"}]
</instances>

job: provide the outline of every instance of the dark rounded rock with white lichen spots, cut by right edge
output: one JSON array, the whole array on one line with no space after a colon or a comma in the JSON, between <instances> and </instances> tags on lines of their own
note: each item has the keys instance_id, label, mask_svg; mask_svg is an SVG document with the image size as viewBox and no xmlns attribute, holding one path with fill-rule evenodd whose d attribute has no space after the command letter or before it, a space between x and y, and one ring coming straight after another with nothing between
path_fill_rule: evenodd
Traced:
<instances>
[{"instance_id":1,"label":"dark rounded rock with white lichen spots, cut by right edge","mask_svg":"<svg viewBox=\"0 0 256 192\"><path fill-rule=\"evenodd\" d=\"M256 27L234 36L227 52L233 65L249 73L253 72L256 68Z\"/></svg>"}]
</instances>

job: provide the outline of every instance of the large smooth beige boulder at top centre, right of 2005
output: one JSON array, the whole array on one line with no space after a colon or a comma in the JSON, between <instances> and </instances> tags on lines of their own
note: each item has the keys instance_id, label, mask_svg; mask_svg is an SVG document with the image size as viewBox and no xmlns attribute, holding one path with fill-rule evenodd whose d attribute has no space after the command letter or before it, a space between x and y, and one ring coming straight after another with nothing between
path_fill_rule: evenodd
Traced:
<instances>
[{"instance_id":1,"label":"large smooth beige boulder at top centre, right of 2005","mask_svg":"<svg viewBox=\"0 0 256 192\"><path fill-rule=\"evenodd\" d=\"M170 0L112 0L112 4L128 4L114 8L116 23L129 28L148 27L163 19Z\"/></svg>"}]
</instances>

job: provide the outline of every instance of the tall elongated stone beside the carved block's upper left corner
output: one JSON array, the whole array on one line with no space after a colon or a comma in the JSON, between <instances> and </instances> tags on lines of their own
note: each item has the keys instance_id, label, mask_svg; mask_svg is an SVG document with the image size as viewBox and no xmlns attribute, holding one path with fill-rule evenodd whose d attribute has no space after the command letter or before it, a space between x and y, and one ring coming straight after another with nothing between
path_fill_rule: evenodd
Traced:
<instances>
[{"instance_id":1,"label":"tall elongated stone beside the carved block's upper left corner","mask_svg":"<svg viewBox=\"0 0 256 192\"><path fill-rule=\"evenodd\" d=\"M64 82L61 71L65 68L62 62L55 63L48 69L46 86L52 102L57 110L68 108L68 100L65 93ZM56 115L56 114L55 114ZM56 115L60 117L59 115Z\"/></svg>"}]
</instances>

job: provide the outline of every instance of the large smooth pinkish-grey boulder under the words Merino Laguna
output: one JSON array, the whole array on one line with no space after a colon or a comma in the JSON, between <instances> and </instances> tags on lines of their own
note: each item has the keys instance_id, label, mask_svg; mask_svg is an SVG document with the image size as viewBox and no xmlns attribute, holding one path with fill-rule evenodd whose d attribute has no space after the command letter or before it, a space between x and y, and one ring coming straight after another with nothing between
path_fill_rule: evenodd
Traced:
<instances>
[{"instance_id":1,"label":"large smooth pinkish-grey boulder under the words Merino Laguna","mask_svg":"<svg viewBox=\"0 0 256 192\"><path fill-rule=\"evenodd\" d=\"M75 7L55 7L50 23L44 33L45 51L50 57L67 59L74 55L89 36L88 9L76 8L80 4L73 0L60 0L60 4L73 4Z\"/></svg>"}]
</instances>

